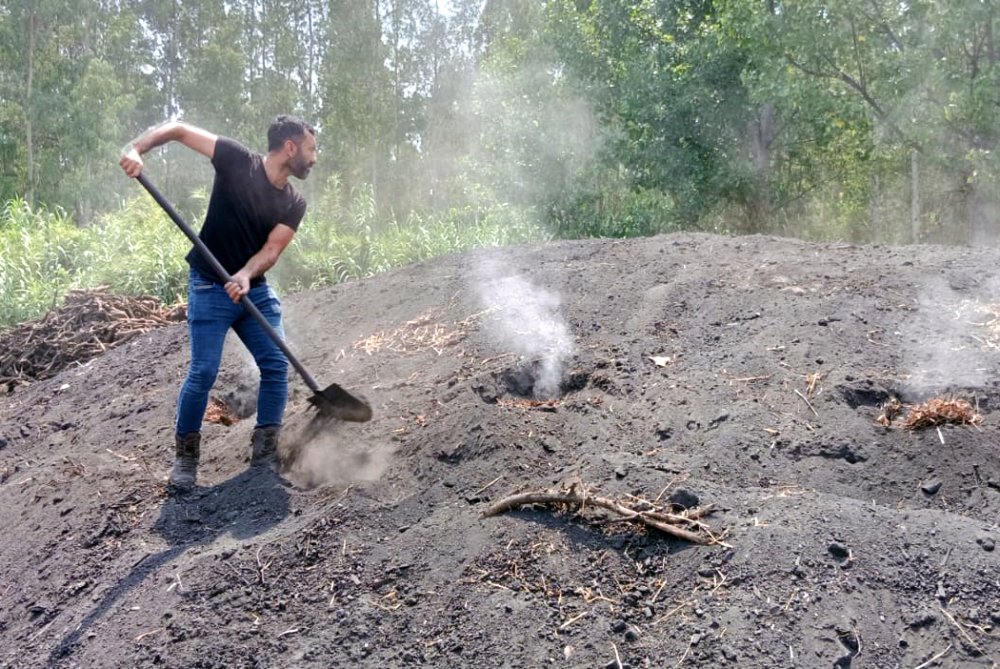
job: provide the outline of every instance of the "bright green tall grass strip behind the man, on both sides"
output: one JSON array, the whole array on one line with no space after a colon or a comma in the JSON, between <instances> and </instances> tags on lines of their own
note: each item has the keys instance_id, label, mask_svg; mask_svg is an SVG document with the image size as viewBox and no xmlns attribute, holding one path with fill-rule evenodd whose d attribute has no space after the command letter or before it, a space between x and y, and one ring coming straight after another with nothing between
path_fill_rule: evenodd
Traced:
<instances>
[{"instance_id":1,"label":"bright green tall grass strip behind the man, on both sides","mask_svg":"<svg viewBox=\"0 0 1000 669\"><path fill-rule=\"evenodd\" d=\"M293 292L442 254L540 241L545 233L530 214L494 205L398 221L378 215L370 190L359 190L344 205L334 179L268 277L283 292ZM70 288L108 286L115 294L151 295L174 304L186 297L184 256L190 248L145 195L85 228L62 211L32 210L11 200L0 211L0 326L60 306Z\"/></svg>"}]
</instances>

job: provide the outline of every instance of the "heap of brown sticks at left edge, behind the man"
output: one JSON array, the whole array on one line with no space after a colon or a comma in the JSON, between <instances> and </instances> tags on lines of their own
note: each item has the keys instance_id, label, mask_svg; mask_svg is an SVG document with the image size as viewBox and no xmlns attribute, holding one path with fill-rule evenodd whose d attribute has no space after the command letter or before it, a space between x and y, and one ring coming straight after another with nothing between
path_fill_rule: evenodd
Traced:
<instances>
[{"instance_id":1,"label":"heap of brown sticks at left edge, behind the man","mask_svg":"<svg viewBox=\"0 0 1000 669\"><path fill-rule=\"evenodd\" d=\"M0 391L50 378L183 319L182 307L164 307L153 297L111 295L106 287L71 290L58 309L0 330Z\"/></svg>"}]
</instances>

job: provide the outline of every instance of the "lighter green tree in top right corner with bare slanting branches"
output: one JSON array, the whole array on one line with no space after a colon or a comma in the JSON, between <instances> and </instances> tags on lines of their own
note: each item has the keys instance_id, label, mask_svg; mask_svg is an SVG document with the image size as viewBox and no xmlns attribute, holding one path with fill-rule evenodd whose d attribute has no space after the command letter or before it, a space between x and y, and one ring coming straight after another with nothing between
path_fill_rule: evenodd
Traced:
<instances>
[{"instance_id":1,"label":"lighter green tree in top right corner with bare slanting branches","mask_svg":"<svg viewBox=\"0 0 1000 669\"><path fill-rule=\"evenodd\" d=\"M720 7L726 38L750 54L754 99L777 109L783 132L775 149L795 174L786 172L786 188L804 192L829 179L862 214L879 198L908 210L879 221L894 231L883 238L995 236L993 3L724 0Z\"/></svg>"}]
</instances>

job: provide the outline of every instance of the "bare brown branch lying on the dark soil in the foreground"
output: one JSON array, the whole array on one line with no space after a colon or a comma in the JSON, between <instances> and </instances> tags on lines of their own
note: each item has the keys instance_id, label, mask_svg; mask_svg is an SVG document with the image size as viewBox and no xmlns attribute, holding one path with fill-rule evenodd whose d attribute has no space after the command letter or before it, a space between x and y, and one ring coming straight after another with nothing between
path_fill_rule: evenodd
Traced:
<instances>
[{"instance_id":1,"label":"bare brown branch lying on the dark soil in the foreground","mask_svg":"<svg viewBox=\"0 0 1000 669\"><path fill-rule=\"evenodd\" d=\"M708 526L697 520L711 513L710 508L672 513L646 500L625 502L601 495L592 495L581 490L580 486L577 485L565 490L544 490L511 495L490 506L483 512L483 516L497 516L529 504L569 506L581 512L584 507L599 507L621 516L618 520L639 523L694 544L720 543L719 538L710 531Z\"/></svg>"}]
</instances>

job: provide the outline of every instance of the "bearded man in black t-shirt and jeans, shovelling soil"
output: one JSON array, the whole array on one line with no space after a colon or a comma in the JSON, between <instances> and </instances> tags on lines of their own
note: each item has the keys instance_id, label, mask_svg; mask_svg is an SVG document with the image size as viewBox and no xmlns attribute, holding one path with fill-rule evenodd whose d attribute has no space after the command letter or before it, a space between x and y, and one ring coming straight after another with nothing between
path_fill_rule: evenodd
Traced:
<instances>
[{"instance_id":1,"label":"bearded man in black t-shirt and jeans, shovelling soil","mask_svg":"<svg viewBox=\"0 0 1000 669\"><path fill-rule=\"evenodd\" d=\"M221 284L211 265L192 248L187 255L188 332L191 364L177 402L174 466L170 483L193 488L201 456L201 423L208 395L232 328L260 370L257 423L251 465L274 462L288 401L288 360L240 304L244 295L281 336L281 303L264 273L292 241L306 202L288 179L305 179L316 163L316 133L304 121L279 116L267 131L267 155L186 123L166 123L135 139L119 164L130 177L142 172L142 155L170 141L206 156L215 167L208 213L199 234L232 281Z\"/></svg>"}]
</instances>

